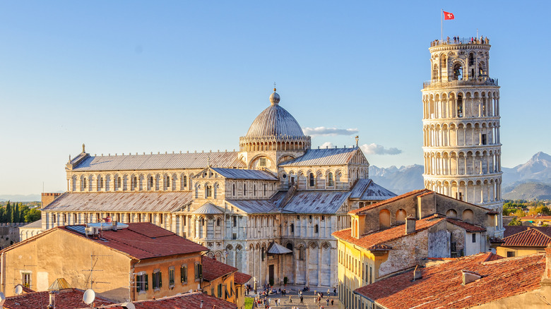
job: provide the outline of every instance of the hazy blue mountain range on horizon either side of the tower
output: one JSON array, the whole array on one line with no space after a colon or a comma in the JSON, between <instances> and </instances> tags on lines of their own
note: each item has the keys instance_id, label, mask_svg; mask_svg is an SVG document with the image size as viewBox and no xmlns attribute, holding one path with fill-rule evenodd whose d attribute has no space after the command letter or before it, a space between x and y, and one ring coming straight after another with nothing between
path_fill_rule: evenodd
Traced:
<instances>
[{"instance_id":1,"label":"hazy blue mountain range on horizon either side of the tower","mask_svg":"<svg viewBox=\"0 0 551 309\"><path fill-rule=\"evenodd\" d=\"M524 164L513 168L502 166L503 198L506 200L551 200L551 156L538 152ZM402 194L424 188L423 166L369 166L369 177L377 184Z\"/></svg>"}]
</instances>

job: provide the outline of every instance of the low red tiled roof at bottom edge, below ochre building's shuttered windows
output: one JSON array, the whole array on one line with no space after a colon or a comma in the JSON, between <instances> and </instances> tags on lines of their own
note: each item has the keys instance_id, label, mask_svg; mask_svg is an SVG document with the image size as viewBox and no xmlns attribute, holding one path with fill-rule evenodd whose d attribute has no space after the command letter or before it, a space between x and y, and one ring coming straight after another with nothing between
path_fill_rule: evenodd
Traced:
<instances>
[{"instance_id":1,"label":"low red tiled roof at bottom edge, below ochre building's shuttered windows","mask_svg":"<svg viewBox=\"0 0 551 309\"><path fill-rule=\"evenodd\" d=\"M159 299L149 299L147 301L134 301L136 309L199 309L203 301L203 309L236 309L237 305L215 298L201 292L185 293L177 296L169 296ZM215 307L214 307L215 306ZM97 307L101 309L124 309L121 304L105 305ZM89 308L86 308L89 309Z\"/></svg>"}]
</instances>

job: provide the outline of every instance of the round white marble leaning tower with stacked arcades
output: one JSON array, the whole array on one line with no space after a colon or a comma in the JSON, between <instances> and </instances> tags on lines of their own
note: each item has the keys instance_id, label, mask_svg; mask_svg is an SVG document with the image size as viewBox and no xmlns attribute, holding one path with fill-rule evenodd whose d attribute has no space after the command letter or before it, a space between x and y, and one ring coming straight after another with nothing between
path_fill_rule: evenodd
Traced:
<instances>
[{"instance_id":1,"label":"round white marble leaning tower with stacked arcades","mask_svg":"<svg viewBox=\"0 0 551 309\"><path fill-rule=\"evenodd\" d=\"M499 85L490 75L490 41L434 41L429 51L432 78L422 89L425 188L499 212L495 236L502 236Z\"/></svg>"}]
</instances>

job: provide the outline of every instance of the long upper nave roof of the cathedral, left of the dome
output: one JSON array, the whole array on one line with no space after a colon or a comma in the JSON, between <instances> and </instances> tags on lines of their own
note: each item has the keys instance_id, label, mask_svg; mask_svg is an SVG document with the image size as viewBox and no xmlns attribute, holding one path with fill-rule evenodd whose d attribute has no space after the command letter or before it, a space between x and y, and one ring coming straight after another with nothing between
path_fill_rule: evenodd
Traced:
<instances>
[{"instance_id":1,"label":"long upper nave roof of the cathedral, left of the dome","mask_svg":"<svg viewBox=\"0 0 551 309\"><path fill-rule=\"evenodd\" d=\"M201 169L209 163L211 166L246 167L237 159L237 152L198 152L88 156L74 166L73 171Z\"/></svg>"}]
</instances>

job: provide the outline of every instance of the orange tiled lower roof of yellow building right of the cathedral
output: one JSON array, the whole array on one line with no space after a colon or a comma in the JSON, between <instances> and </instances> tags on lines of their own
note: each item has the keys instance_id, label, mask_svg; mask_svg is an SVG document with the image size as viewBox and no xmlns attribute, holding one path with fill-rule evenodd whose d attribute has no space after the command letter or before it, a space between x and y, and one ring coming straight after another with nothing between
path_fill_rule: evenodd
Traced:
<instances>
[{"instance_id":1,"label":"orange tiled lower roof of yellow building right of the cathedral","mask_svg":"<svg viewBox=\"0 0 551 309\"><path fill-rule=\"evenodd\" d=\"M438 224L439 222L442 222L444 220L444 218L440 218L437 216L431 216L425 219L417 220L417 222L415 223L415 232L428 229L429 227L434 226L434 224ZM391 229L385 229L382 231L367 234L360 238L352 237L352 234L350 232L351 230L352 229L343 229L340 231L336 231L331 235L335 236L336 238L340 238L343 241L348 241L349 243L353 243L362 248L366 248L368 250L370 250L370 248L373 248L373 250L384 250L380 246L377 247L377 245L384 245L384 243L388 243L389 241L411 235L405 234L405 224L395 226Z\"/></svg>"}]
</instances>

